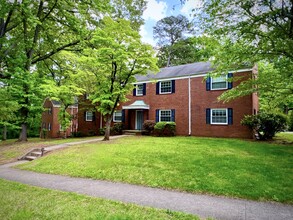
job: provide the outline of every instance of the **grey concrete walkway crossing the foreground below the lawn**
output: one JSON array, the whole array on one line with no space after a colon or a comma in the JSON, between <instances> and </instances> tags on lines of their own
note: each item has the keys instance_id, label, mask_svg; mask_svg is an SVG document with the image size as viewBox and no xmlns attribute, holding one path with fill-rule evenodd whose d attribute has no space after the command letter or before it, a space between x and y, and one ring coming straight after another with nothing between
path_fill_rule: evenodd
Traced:
<instances>
[{"instance_id":1,"label":"grey concrete walkway crossing the foreground below the lawn","mask_svg":"<svg viewBox=\"0 0 293 220\"><path fill-rule=\"evenodd\" d=\"M63 147L67 146L68 144ZM50 150L52 149L50 148ZM0 166L0 178L48 189L76 192L142 206L181 211L203 218L212 217L225 220L293 219L293 206L291 205L196 195L124 183L34 173L11 168L20 163L24 163L24 161Z\"/></svg>"}]
</instances>

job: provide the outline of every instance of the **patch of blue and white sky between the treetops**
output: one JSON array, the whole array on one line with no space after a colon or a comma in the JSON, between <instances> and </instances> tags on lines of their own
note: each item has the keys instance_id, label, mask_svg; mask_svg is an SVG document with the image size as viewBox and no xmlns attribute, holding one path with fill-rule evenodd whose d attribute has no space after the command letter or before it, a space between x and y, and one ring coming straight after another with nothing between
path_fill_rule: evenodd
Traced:
<instances>
[{"instance_id":1,"label":"patch of blue and white sky between the treetops","mask_svg":"<svg viewBox=\"0 0 293 220\"><path fill-rule=\"evenodd\" d=\"M191 10L201 4L201 0L187 0L183 5L181 5L180 0L148 0L147 2L147 9L143 13L145 25L140 28L140 35L144 43L153 46L156 45L153 39L153 27L157 21L178 14L182 14L191 20Z\"/></svg>"}]
</instances>

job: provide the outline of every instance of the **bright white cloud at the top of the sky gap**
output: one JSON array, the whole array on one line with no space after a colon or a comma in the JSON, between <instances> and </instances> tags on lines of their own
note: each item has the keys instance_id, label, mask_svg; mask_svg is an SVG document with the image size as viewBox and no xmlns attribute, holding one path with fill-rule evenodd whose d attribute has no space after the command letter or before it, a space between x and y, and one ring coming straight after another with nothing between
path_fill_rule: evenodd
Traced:
<instances>
[{"instance_id":1,"label":"bright white cloud at the top of the sky gap","mask_svg":"<svg viewBox=\"0 0 293 220\"><path fill-rule=\"evenodd\" d=\"M156 0L149 0L147 3L147 9L143 12L143 19L158 21L167 16L167 3Z\"/></svg>"}]
</instances>

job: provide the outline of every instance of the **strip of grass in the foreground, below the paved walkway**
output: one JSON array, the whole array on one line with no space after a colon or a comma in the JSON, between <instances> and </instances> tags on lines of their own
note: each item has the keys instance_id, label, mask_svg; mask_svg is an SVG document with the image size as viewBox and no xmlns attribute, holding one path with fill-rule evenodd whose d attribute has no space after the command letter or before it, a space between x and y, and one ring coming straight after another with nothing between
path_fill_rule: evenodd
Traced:
<instances>
[{"instance_id":1,"label":"strip of grass in the foreground, below the paved walkway","mask_svg":"<svg viewBox=\"0 0 293 220\"><path fill-rule=\"evenodd\" d=\"M0 219L198 219L196 216L0 179Z\"/></svg>"}]
</instances>

